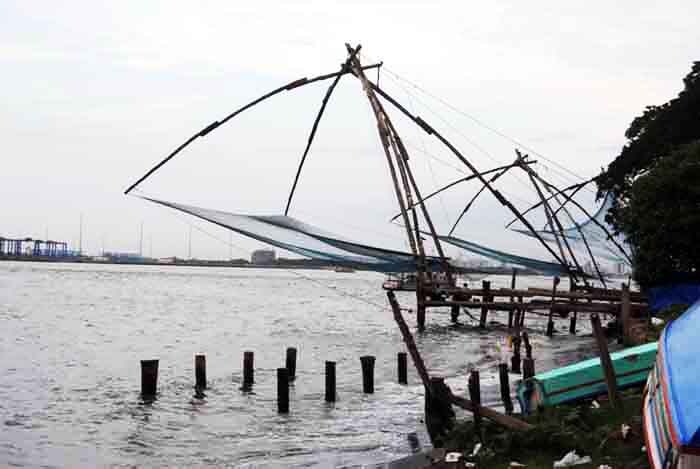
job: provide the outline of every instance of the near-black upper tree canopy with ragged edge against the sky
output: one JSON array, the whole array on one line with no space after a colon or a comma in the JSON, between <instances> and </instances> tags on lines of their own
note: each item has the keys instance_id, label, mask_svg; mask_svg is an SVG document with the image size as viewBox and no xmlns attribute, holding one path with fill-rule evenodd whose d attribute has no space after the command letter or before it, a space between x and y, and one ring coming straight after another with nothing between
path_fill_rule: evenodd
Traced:
<instances>
[{"instance_id":1,"label":"near-black upper tree canopy with ragged edge against the sky","mask_svg":"<svg viewBox=\"0 0 700 469\"><path fill-rule=\"evenodd\" d=\"M618 230L622 230L620 210L628 202L635 179L679 146L700 139L700 62L694 62L683 83L677 98L648 106L632 121L625 132L629 141L598 178L599 196L609 191L615 196L608 221Z\"/></svg>"}]
</instances>

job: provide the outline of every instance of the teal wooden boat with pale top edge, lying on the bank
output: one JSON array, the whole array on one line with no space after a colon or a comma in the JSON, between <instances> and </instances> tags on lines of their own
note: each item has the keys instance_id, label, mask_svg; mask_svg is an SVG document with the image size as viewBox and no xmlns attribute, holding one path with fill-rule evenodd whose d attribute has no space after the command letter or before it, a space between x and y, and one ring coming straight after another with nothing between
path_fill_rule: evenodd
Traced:
<instances>
[{"instance_id":1,"label":"teal wooden boat with pale top edge, lying on the bank","mask_svg":"<svg viewBox=\"0 0 700 469\"><path fill-rule=\"evenodd\" d=\"M617 387L641 386L654 367L657 343L649 343L611 353ZM600 358L591 358L556 368L523 380L517 397L523 414L538 407L548 407L607 393Z\"/></svg>"}]
</instances>

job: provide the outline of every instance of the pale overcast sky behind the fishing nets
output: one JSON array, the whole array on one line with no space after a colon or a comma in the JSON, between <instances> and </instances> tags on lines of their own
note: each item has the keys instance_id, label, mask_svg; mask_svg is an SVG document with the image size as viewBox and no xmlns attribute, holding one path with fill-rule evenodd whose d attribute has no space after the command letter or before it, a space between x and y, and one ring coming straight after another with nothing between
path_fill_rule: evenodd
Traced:
<instances>
[{"instance_id":1,"label":"pale overcast sky behind the fishing nets","mask_svg":"<svg viewBox=\"0 0 700 469\"><path fill-rule=\"evenodd\" d=\"M156 257L249 257L260 243L123 195L210 122L300 77L333 72L344 44L383 61L380 86L444 132L481 170L515 148L557 185L597 174L644 107L675 97L698 60L696 1L0 0L0 236ZM377 73L369 73L377 79ZM279 214L327 82L285 92L195 142L142 194L236 213ZM389 110L424 193L466 172ZM524 173L499 188L536 201ZM429 208L447 232L477 185ZM586 199L588 198L588 199ZM582 193L593 206L593 194ZM353 240L406 249L376 124L344 77L319 126L290 215ZM542 220L534 219L542 224ZM455 231L521 254L481 197ZM232 246L231 246L232 245ZM539 250L538 250L539 249ZM458 255L458 253L450 253Z\"/></svg>"}]
</instances>

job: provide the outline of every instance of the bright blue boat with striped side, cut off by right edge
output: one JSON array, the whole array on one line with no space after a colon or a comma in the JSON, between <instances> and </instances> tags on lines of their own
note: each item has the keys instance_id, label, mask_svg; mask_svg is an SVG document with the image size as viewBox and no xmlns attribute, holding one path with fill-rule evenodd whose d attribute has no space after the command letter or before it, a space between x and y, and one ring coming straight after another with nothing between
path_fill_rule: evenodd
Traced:
<instances>
[{"instance_id":1,"label":"bright blue boat with striped side, cut off by right edge","mask_svg":"<svg viewBox=\"0 0 700 469\"><path fill-rule=\"evenodd\" d=\"M671 321L644 389L644 434L654 469L700 468L700 301Z\"/></svg>"}]
</instances>

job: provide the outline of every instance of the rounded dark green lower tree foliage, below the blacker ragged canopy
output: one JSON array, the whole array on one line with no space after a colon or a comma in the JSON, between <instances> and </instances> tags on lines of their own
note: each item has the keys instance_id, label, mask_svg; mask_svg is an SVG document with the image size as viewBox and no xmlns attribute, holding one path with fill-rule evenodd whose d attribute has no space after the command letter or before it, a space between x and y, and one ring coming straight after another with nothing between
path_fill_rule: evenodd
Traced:
<instances>
[{"instance_id":1,"label":"rounded dark green lower tree foliage, below the blacker ragged canopy","mask_svg":"<svg viewBox=\"0 0 700 469\"><path fill-rule=\"evenodd\" d=\"M641 285L700 280L700 140L635 179L617 217Z\"/></svg>"}]
</instances>

